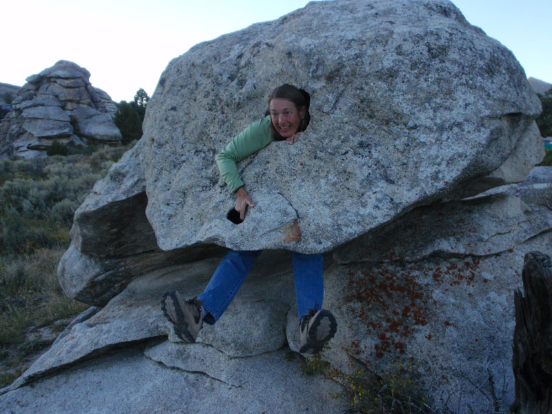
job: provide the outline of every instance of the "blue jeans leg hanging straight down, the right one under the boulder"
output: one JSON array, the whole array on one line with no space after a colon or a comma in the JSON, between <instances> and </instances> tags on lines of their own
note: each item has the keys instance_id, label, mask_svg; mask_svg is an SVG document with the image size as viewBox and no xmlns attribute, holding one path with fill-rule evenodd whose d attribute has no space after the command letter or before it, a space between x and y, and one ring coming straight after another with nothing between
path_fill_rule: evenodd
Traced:
<instances>
[{"instance_id":1,"label":"blue jeans leg hanging straight down, the right one under the boulder","mask_svg":"<svg viewBox=\"0 0 552 414\"><path fill-rule=\"evenodd\" d=\"M324 259L322 255L293 253L295 299L299 320L309 308L322 308L324 300Z\"/></svg>"}]
</instances>

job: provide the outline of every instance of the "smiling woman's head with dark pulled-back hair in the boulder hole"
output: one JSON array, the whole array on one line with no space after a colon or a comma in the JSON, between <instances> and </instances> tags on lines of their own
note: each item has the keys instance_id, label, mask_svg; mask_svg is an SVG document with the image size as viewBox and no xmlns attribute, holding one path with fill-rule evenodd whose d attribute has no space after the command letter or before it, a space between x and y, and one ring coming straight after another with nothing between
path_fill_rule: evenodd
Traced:
<instances>
[{"instance_id":1,"label":"smiling woman's head with dark pulled-back hair in the boulder hole","mask_svg":"<svg viewBox=\"0 0 552 414\"><path fill-rule=\"evenodd\" d=\"M286 139L306 130L311 121L308 108L311 104L311 95L303 89L284 83L278 86L268 98L270 115L270 129L277 140Z\"/></svg>"}]
</instances>

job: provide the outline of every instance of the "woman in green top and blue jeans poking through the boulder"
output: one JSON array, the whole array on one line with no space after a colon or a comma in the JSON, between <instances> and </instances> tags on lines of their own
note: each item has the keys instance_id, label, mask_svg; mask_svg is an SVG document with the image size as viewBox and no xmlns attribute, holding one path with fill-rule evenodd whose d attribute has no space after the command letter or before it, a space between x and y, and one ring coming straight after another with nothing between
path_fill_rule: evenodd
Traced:
<instances>
[{"instance_id":1,"label":"woman in green top and blue jeans poking through the boulder","mask_svg":"<svg viewBox=\"0 0 552 414\"><path fill-rule=\"evenodd\" d=\"M262 150L272 141L285 140L287 144L294 144L311 120L308 112L310 101L310 95L302 89L287 83L279 86L268 99L266 117L250 124L217 155L221 177L236 195L235 210L242 221L246 217L247 208L254 208L255 203L246 191L236 163ZM260 250L230 250L204 292L197 298L184 301L175 290L165 293L161 308L173 325L177 337L184 342L195 342L203 322L215 324L232 302L260 254ZM331 312L319 310L324 298L322 255L294 252L293 275L301 338L299 352L318 353L337 329Z\"/></svg>"}]
</instances>

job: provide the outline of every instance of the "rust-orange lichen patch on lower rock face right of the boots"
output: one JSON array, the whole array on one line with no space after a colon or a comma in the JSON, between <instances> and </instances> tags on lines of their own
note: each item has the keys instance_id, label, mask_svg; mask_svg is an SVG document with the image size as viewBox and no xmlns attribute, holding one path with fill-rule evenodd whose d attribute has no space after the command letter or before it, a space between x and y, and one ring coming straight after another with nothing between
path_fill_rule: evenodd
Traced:
<instances>
[{"instance_id":1,"label":"rust-orange lichen patch on lower rock face right of the boots","mask_svg":"<svg viewBox=\"0 0 552 414\"><path fill-rule=\"evenodd\" d=\"M408 337L429 325L429 319L437 302L432 289L443 285L444 292L455 288L473 286L477 281L489 283L488 279L477 278L480 258L460 259L433 266L395 266L386 268L382 264L364 264L362 268L348 271L349 311L366 325L366 333L377 339L373 353L382 358L388 353L406 353ZM424 282L425 281L425 282ZM446 286L446 287L445 287ZM466 292L469 297L473 294ZM452 326L451 322L444 322ZM428 329L428 328L426 328ZM434 333L424 333L426 339Z\"/></svg>"}]
</instances>

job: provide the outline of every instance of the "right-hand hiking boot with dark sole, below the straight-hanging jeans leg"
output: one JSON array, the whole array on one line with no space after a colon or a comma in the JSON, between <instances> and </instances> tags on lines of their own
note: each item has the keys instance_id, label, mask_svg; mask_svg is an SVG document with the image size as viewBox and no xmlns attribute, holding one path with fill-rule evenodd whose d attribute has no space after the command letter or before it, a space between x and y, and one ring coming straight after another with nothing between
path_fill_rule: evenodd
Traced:
<instances>
[{"instance_id":1,"label":"right-hand hiking boot with dark sole, below the straight-hanging jeans leg","mask_svg":"<svg viewBox=\"0 0 552 414\"><path fill-rule=\"evenodd\" d=\"M337 331L337 322L330 311L309 309L299 322L300 353L315 354L322 351L326 342L333 338Z\"/></svg>"}]
</instances>

